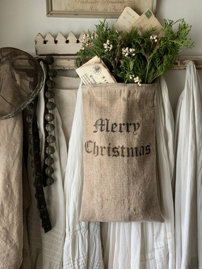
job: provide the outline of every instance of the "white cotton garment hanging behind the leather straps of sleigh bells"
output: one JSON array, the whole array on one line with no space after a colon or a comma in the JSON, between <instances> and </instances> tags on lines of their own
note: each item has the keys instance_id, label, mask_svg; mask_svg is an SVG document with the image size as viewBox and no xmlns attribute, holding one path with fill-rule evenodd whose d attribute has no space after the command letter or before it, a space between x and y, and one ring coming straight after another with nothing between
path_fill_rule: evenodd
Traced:
<instances>
[{"instance_id":1,"label":"white cotton garment hanging behind the leather straps of sleigh bells","mask_svg":"<svg viewBox=\"0 0 202 269\"><path fill-rule=\"evenodd\" d=\"M43 64L44 77L46 71ZM44 85L43 85L44 89ZM43 131L43 118L44 118L44 98L43 89L38 95L37 104L37 122L40 137L40 156L43 162L43 148L44 148L44 131ZM50 101L54 102L53 99ZM57 107L50 111L54 114L53 123L55 129L50 134L56 138L55 143L50 144L55 148L55 153L50 155L54 159L52 165L54 169L53 177L54 183L51 186L44 187L44 194L47 203L47 209L50 216L52 229L44 233L41 227L41 220L39 218L39 210L37 209L37 200L35 199L35 188L33 186L34 178L31 167L32 156L28 154L27 172L31 196L31 205L28 211L28 239L30 246L30 258L32 269L62 269L63 261L63 247L65 238L65 203L63 194L63 182L67 164L67 146L62 130L62 122L58 113ZM32 146L29 145L31 148ZM30 149L29 148L29 149Z\"/></svg>"}]
</instances>

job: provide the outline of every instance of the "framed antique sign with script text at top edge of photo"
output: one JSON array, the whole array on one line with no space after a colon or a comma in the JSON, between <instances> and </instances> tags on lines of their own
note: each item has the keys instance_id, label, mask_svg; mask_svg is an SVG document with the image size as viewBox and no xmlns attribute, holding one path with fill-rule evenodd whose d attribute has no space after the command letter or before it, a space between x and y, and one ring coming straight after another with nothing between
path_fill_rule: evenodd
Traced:
<instances>
[{"instance_id":1,"label":"framed antique sign with script text at top edge of photo","mask_svg":"<svg viewBox=\"0 0 202 269\"><path fill-rule=\"evenodd\" d=\"M127 6L138 14L147 8L156 12L156 0L46 0L46 13L48 17L118 18Z\"/></svg>"}]
</instances>

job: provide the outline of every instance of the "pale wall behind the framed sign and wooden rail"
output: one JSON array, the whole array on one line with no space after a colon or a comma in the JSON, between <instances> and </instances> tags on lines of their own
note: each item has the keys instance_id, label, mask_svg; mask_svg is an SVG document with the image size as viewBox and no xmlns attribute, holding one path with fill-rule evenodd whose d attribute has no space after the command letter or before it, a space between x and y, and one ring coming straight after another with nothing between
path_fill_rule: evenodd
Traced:
<instances>
[{"instance_id":1,"label":"pale wall behind the framed sign and wooden rail","mask_svg":"<svg viewBox=\"0 0 202 269\"><path fill-rule=\"evenodd\" d=\"M184 18L192 24L190 37L195 41L193 49L185 49L182 55L202 55L202 1L157 0L156 17L177 20ZM94 30L99 19L49 18L46 17L45 0L0 0L0 47L16 47L35 55L34 39L37 33L48 32L57 36L61 31L67 36L70 31L79 37L81 31ZM115 20L108 19L109 25ZM168 84L170 102L175 111L178 97L183 90L185 70L169 70L164 77ZM202 78L202 71L199 70ZM62 75L74 76L72 71Z\"/></svg>"}]
</instances>

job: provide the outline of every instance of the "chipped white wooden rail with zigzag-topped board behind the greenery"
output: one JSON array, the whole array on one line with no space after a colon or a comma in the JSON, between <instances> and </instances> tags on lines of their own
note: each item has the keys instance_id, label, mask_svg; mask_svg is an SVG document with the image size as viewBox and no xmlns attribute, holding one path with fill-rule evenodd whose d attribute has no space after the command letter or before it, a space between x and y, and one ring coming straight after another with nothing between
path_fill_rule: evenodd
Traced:
<instances>
[{"instance_id":1,"label":"chipped white wooden rail with zigzag-topped board behind the greenery","mask_svg":"<svg viewBox=\"0 0 202 269\"><path fill-rule=\"evenodd\" d=\"M95 31L93 31L96 35ZM61 32L54 38L51 33L47 33L44 38L40 33L35 39L36 58L45 58L47 55L54 56L54 62L51 65L52 69L75 70L74 61L76 52L81 49L83 40L82 31L79 38L76 38L71 31L67 38ZM202 69L202 56L179 56L173 69L186 69L187 63L193 61L196 69Z\"/></svg>"}]
</instances>

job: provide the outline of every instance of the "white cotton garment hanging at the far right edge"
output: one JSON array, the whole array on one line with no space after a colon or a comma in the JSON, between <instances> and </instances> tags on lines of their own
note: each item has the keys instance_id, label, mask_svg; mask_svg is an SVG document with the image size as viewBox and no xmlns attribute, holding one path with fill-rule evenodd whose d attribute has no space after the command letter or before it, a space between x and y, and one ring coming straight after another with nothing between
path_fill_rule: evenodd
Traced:
<instances>
[{"instance_id":1,"label":"white cotton garment hanging at the far right edge","mask_svg":"<svg viewBox=\"0 0 202 269\"><path fill-rule=\"evenodd\" d=\"M194 63L189 62L175 123L176 269L202 268L201 95L200 78Z\"/></svg>"}]
</instances>

